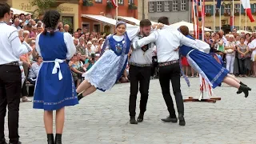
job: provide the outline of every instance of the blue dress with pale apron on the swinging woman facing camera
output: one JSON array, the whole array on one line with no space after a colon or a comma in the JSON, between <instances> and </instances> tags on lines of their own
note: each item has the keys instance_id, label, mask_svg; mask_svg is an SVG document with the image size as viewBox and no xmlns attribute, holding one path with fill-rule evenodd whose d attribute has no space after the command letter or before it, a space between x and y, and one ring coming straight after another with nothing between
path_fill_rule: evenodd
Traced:
<instances>
[{"instance_id":1,"label":"blue dress with pale apron on the swinging woman facing camera","mask_svg":"<svg viewBox=\"0 0 256 144\"><path fill-rule=\"evenodd\" d=\"M130 50L130 38L127 33L123 36L111 35L102 46L104 54L94 63L83 77L98 90L110 90L122 77L127 65L127 54Z\"/></svg>"}]
</instances>

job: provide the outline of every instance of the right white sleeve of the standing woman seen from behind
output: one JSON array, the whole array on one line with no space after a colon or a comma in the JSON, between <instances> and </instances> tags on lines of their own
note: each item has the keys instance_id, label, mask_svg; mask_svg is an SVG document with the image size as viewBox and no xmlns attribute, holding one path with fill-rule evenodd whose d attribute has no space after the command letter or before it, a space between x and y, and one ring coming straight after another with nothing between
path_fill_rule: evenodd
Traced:
<instances>
[{"instance_id":1,"label":"right white sleeve of the standing woman seen from behind","mask_svg":"<svg viewBox=\"0 0 256 144\"><path fill-rule=\"evenodd\" d=\"M74 40L70 33L64 33L64 42L66 43L66 59L70 59L75 54L76 48L74 46Z\"/></svg>"}]
</instances>

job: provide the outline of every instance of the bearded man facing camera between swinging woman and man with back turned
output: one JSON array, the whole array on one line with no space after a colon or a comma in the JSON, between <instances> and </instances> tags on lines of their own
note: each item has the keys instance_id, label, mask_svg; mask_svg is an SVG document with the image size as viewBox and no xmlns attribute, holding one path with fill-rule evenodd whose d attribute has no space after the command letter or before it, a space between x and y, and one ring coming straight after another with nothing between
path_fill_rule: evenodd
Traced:
<instances>
[{"instance_id":1,"label":"bearded man facing camera between swinging woman and man with back turned","mask_svg":"<svg viewBox=\"0 0 256 144\"><path fill-rule=\"evenodd\" d=\"M151 22L148 19L143 19L140 22L140 33L134 38L133 42L138 39L150 35ZM130 100L129 100L129 112L130 112L130 124L138 124L142 122L144 113L146 111L146 103L149 97L150 87L150 75L152 66L152 51L153 44L147 44L140 48L133 49L130 56ZM139 84L139 87L138 87ZM137 121L136 115L136 100L138 90L141 93L140 101L140 114L138 115Z\"/></svg>"}]
</instances>

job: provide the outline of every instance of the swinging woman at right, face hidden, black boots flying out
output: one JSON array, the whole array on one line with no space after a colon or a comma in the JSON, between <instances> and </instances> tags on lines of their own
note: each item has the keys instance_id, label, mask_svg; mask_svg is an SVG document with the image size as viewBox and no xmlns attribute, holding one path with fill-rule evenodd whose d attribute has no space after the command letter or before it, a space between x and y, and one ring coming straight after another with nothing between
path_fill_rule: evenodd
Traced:
<instances>
[{"instance_id":1,"label":"swinging woman at right, face hidden, black boots flying out","mask_svg":"<svg viewBox=\"0 0 256 144\"><path fill-rule=\"evenodd\" d=\"M189 34L189 29L187 26L180 26L179 30L187 38L194 39ZM242 91L245 94L245 97L248 97L249 90L248 86L243 84L237 78L229 74L229 71L226 68L222 67L210 54L206 54L202 51L196 50L189 46L181 46L180 53L183 56L186 56L190 66L197 70L199 74L202 75L202 78L206 79L213 88L219 86L222 82L238 88L239 91Z\"/></svg>"}]
</instances>

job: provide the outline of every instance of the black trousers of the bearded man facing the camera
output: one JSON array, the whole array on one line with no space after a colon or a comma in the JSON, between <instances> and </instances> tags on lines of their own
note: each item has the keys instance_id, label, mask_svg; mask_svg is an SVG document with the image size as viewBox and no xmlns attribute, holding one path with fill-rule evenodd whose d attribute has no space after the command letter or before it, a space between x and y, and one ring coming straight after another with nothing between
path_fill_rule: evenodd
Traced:
<instances>
[{"instance_id":1,"label":"black trousers of the bearded man facing the camera","mask_svg":"<svg viewBox=\"0 0 256 144\"><path fill-rule=\"evenodd\" d=\"M129 112L130 116L136 115L136 100L138 89L141 93L140 101L140 112L145 113L146 103L149 97L149 88L150 88L150 74L151 66L139 67L139 66L130 66L129 75L130 75L130 99L129 99ZM138 88L139 84L139 88Z\"/></svg>"}]
</instances>

